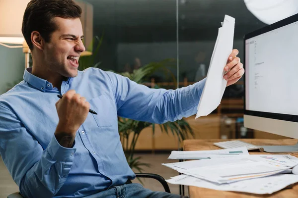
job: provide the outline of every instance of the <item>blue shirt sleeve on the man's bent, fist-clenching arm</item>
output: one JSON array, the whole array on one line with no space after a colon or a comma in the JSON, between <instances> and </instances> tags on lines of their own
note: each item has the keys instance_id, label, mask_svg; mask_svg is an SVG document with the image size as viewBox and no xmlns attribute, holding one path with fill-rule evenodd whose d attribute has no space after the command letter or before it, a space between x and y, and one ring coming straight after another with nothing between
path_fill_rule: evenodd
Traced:
<instances>
[{"instance_id":1,"label":"blue shirt sleeve on the man's bent, fist-clenching arm","mask_svg":"<svg viewBox=\"0 0 298 198\"><path fill-rule=\"evenodd\" d=\"M52 198L65 183L76 148L64 148L54 132L43 150L18 117L0 105L0 154L14 182L27 198Z\"/></svg>"}]
</instances>

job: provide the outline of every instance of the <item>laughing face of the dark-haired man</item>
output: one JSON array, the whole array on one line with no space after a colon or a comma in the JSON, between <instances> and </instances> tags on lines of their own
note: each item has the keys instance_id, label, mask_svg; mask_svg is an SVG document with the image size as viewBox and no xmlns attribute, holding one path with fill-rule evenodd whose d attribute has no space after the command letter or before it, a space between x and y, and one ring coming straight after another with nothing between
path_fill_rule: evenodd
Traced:
<instances>
[{"instance_id":1,"label":"laughing face of the dark-haired man","mask_svg":"<svg viewBox=\"0 0 298 198\"><path fill-rule=\"evenodd\" d=\"M45 43L45 65L62 76L75 77L80 53L85 50L82 24L79 18L55 17L54 22L58 29L52 33L50 42Z\"/></svg>"}]
</instances>

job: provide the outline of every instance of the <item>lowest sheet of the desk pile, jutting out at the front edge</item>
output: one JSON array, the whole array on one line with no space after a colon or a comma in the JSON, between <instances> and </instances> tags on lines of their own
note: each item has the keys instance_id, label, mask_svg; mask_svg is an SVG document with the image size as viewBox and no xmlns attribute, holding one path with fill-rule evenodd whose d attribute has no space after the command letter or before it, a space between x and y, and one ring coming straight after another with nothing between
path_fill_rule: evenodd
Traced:
<instances>
[{"instance_id":1,"label":"lowest sheet of the desk pile, jutting out at the front edge","mask_svg":"<svg viewBox=\"0 0 298 198\"><path fill-rule=\"evenodd\" d=\"M285 187L297 183L298 175L282 174L257 179L244 180L234 182L231 184L216 184L202 179L198 179L188 175L178 175L169 180L165 180L170 184L196 186L207 189L214 189L218 191L234 191L253 194L272 194Z\"/></svg>"}]
</instances>

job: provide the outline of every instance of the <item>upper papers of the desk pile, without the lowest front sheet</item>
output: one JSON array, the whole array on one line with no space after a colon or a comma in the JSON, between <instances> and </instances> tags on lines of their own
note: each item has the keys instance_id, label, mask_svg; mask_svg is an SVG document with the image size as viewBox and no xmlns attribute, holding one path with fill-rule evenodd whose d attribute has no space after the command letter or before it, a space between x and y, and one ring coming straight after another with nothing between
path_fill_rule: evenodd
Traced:
<instances>
[{"instance_id":1,"label":"upper papers of the desk pile, without the lowest front sheet","mask_svg":"<svg viewBox=\"0 0 298 198\"><path fill-rule=\"evenodd\" d=\"M274 155L238 155L162 165L218 184L274 175L297 165L297 162L286 157L288 155L272 156Z\"/></svg>"}]
</instances>

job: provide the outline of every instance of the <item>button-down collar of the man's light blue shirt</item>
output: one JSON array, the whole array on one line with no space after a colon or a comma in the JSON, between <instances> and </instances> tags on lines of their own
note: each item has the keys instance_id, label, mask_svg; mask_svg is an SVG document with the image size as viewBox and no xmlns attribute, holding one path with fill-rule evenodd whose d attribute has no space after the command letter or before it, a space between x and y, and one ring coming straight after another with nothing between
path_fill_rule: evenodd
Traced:
<instances>
[{"instance_id":1,"label":"button-down collar of the man's light blue shirt","mask_svg":"<svg viewBox=\"0 0 298 198\"><path fill-rule=\"evenodd\" d=\"M38 78L37 76L34 76L33 74L31 74L31 72L32 72L32 67L25 69L24 76L23 76L24 81L26 81L31 86L35 87L36 89L42 92L46 92L46 89L53 89L52 83L44 79ZM66 83L70 84L72 82L72 79L73 78L68 78Z\"/></svg>"}]
</instances>

